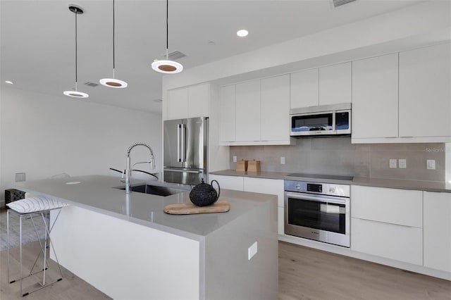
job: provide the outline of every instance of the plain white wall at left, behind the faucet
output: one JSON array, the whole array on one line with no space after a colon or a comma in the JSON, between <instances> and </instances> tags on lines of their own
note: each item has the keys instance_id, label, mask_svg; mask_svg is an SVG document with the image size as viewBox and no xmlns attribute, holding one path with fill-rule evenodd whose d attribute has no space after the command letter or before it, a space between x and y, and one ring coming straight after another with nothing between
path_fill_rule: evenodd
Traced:
<instances>
[{"instance_id":1,"label":"plain white wall at left, behind the faucet","mask_svg":"<svg viewBox=\"0 0 451 300\"><path fill-rule=\"evenodd\" d=\"M127 101L124 99L124 101ZM0 91L0 206L4 189L16 173L38 180L68 173L116 175L125 168L125 151L146 142L161 165L161 115L2 88ZM149 151L136 147L132 163L147 161ZM149 166L135 168L149 170Z\"/></svg>"}]
</instances>

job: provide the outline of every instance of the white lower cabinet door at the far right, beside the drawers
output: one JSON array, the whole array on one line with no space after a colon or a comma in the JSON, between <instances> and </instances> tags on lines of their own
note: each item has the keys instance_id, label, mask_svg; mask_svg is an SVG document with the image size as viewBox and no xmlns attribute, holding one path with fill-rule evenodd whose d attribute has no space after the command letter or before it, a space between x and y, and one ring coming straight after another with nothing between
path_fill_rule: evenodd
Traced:
<instances>
[{"instance_id":1,"label":"white lower cabinet door at the far right, beside the drawers","mask_svg":"<svg viewBox=\"0 0 451 300\"><path fill-rule=\"evenodd\" d=\"M424 192L424 266L451 272L451 194Z\"/></svg>"}]
</instances>

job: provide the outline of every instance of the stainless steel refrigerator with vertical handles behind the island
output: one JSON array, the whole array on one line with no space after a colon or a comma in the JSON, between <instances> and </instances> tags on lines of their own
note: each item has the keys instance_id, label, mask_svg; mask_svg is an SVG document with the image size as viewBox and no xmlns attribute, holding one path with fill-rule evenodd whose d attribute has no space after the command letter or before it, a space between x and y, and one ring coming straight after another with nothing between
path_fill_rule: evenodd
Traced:
<instances>
[{"instance_id":1,"label":"stainless steel refrigerator with vertical handles behind the island","mask_svg":"<svg viewBox=\"0 0 451 300\"><path fill-rule=\"evenodd\" d=\"M163 178L197 185L206 180L208 118L166 120L163 123Z\"/></svg>"}]
</instances>

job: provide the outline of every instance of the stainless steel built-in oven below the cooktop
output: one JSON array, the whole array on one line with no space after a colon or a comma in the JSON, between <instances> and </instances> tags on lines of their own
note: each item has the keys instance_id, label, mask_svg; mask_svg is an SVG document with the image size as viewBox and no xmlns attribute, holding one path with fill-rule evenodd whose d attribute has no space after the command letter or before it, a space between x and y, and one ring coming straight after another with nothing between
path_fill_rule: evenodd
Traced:
<instances>
[{"instance_id":1,"label":"stainless steel built-in oven below the cooktop","mask_svg":"<svg viewBox=\"0 0 451 300\"><path fill-rule=\"evenodd\" d=\"M350 246L350 185L285 180L285 234Z\"/></svg>"}]
</instances>

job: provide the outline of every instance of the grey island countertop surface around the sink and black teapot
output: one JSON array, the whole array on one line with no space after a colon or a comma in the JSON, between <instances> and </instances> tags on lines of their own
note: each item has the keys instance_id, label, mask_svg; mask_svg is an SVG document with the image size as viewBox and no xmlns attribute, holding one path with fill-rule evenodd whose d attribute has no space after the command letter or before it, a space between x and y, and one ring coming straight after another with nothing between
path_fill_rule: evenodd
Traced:
<instances>
[{"instance_id":1,"label":"grey island countertop surface around the sink and black teapot","mask_svg":"<svg viewBox=\"0 0 451 300\"><path fill-rule=\"evenodd\" d=\"M80 183L66 184L66 182ZM53 196L68 204L190 239L202 239L252 210L262 201L274 201L275 205L277 202L276 196L273 195L221 189L220 199L230 204L230 211L227 213L168 215L163 212L163 207L190 201L189 192L171 196L132 192L126 196L125 191L115 188L124 187L117 177L104 175L14 182L11 187L33 194Z\"/></svg>"}]
</instances>

